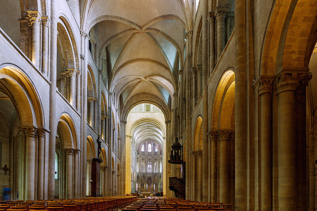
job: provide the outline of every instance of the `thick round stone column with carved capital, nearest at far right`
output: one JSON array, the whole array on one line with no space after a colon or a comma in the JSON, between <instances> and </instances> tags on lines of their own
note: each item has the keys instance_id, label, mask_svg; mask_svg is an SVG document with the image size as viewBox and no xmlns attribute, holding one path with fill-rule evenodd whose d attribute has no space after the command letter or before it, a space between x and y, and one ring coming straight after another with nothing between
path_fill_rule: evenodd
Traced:
<instances>
[{"instance_id":1,"label":"thick round stone column with carved capital, nearest at far right","mask_svg":"<svg viewBox=\"0 0 317 211\"><path fill-rule=\"evenodd\" d=\"M286 73L285 73L286 72ZM278 137L278 207L279 211L296 209L296 123L295 96L304 74L282 71L275 80L277 94Z\"/></svg>"}]
</instances>

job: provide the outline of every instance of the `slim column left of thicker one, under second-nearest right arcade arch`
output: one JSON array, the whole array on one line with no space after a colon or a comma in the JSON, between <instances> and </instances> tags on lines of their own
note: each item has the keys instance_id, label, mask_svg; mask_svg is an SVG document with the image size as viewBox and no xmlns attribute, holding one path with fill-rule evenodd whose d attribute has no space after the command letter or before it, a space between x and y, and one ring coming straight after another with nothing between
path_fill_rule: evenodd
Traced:
<instances>
[{"instance_id":1,"label":"slim column left of thicker one, under second-nearest right arcade arch","mask_svg":"<svg viewBox=\"0 0 317 211\"><path fill-rule=\"evenodd\" d=\"M211 131L210 137L210 189L211 202L217 201L217 132Z\"/></svg>"}]
</instances>

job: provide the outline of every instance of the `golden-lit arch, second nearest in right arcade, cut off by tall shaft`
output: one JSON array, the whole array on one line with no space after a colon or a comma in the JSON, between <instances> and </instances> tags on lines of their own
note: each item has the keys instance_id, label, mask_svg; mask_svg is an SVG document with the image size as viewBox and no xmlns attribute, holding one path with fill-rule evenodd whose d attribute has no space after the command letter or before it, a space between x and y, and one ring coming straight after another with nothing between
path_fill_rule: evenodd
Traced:
<instances>
[{"instance_id":1,"label":"golden-lit arch, second nearest in right arcade, cut off by tall shaft","mask_svg":"<svg viewBox=\"0 0 317 211\"><path fill-rule=\"evenodd\" d=\"M212 103L211 130L234 129L234 103L235 74L232 70L226 70L219 80Z\"/></svg>"}]
</instances>

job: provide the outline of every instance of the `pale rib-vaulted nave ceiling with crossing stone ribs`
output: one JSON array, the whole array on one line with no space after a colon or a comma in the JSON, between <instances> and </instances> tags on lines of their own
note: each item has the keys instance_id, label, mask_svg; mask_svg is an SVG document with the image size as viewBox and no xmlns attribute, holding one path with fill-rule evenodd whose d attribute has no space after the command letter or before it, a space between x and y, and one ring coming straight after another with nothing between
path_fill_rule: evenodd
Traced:
<instances>
[{"instance_id":1,"label":"pale rib-vaulted nave ceiling with crossing stone ribs","mask_svg":"<svg viewBox=\"0 0 317 211\"><path fill-rule=\"evenodd\" d=\"M185 6L181 0L92 0L99 62L107 58L108 90L119 109L133 96L155 95L171 108L184 66ZM141 94L141 95L140 95ZM142 100L142 99L140 99Z\"/></svg>"}]
</instances>

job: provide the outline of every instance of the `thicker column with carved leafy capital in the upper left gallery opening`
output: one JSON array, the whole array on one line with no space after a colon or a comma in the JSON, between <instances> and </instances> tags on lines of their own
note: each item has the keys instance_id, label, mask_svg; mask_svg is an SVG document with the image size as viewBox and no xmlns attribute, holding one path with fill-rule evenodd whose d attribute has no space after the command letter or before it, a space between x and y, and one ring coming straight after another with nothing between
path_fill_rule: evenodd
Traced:
<instances>
[{"instance_id":1,"label":"thicker column with carved leafy capital in the upper left gallery opening","mask_svg":"<svg viewBox=\"0 0 317 211\"><path fill-rule=\"evenodd\" d=\"M38 11L27 11L29 26L32 26L32 54L31 61L36 68L40 66L40 17Z\"/></svg>"}]
</instances>

